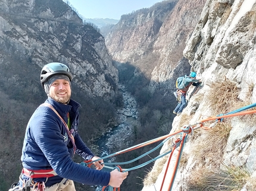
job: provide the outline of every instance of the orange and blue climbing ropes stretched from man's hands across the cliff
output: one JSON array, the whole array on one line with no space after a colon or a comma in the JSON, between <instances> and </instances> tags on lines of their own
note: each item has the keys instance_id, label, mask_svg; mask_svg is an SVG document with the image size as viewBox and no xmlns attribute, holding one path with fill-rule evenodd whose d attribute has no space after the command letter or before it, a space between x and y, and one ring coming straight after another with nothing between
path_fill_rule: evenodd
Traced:
<instances>
[{"instance_id":1,"label":"orange and blue climbing ropes stretched from man's hands across the cliff","mask_svg":"<svg viewBox=\"0 0 256 191\"><path fill-rule=\"evenodd\" d=\"M83 163L81 163L81 164L90 167L90 165L92 163L94 163L95 161L104 160L106 158L114 157L115 155L120 155L120 154L123 154L125 152L133 151L135 149L145 147L145 146L153 144L155 142L162 141L160 144L157 145L157 147L151 149L150 151L146 152L145 154L142 154L141 156L139 156L139 157L137 157L133 160L126 161L126 162L121 162L121 163L102 163L102 164L104 164L104 168L109 168L111 170L114 170L115 168L117 168L121 172L126 172L126 171L131 171L131 170L141 168L141 167L143 167L143 166L145 166L149 163L152 163L153 161L158 160L158 158L161 158L161 157L164 157L165 155L168 155L167 167L166 167L166 170L164 172L163 182L161 183L160 191L163 190L164 183L167 182L167 181L168 181L168 190L171 191L171 189L173 188L174 180L175 180L176 173L177 173L177 170L178 170L178 167L179 167L180 158L182 157L183 148L185 147L186 141L189 139L188 135L193 135L194 130L196 130L198 128L202 128L202 129L205 129L205 130L209 130L211 128L214 128L214 126L216 126L216 124L218 122L222 122L223 119L227 118L227 117L235 117L235 116L241 116L241 115L245 115L245 114L256 113L256 110L244 111L246 109L250 109L250 108L255 107L255 106L256 106L256 103L251 104L251 105L246 106L246 107L242 107L241 109L235 110L233 112L229 112L229 113L226 113L226 114L219 114L216 117L208 117L207 119L200 120L199 122L196 122L193 125L185 125L180 130L177 130L177 132L173 132L173 133L169 133L168 135L160 136L159 138L155 138L155 139L152 139L150 141L146 141L146 142L143 142L141 144L135 145L133 147L123 149L122 151L115 152L113 154L107 155L107 156L102 157L102 158L98 158L97 160L94 160L94 161L83 161ZM208 122L208 121L211 121L211 120L213 120L214 122L211 123L211 125L209 125L209 126L205 126L205 122ZM177 138L176 141L174 141L170 147L168 147L165 151L163 151L157 157L152 158L151 160L146 161L143 164L136 165L135 167L132 167L132 168L123 168L122 169L120 167L120 165L133 163L133 162L139 160L140 158L145 157L146 155L150 154L151 152L153 152L156 149L163 146L164 143L169 141L171 138L174 138L174 136L179 136L179 138ZM174 169L173 169L173 172L171 174L170 180L167 180L166 177L167 177L167 174L168 174L167 173L168 167L170 165L171 157L173 157L173 152L174 152L175 149L177 150L177 156L176 156L176 160L175 160L175 164L174 164ZM116 166L111 167L110 165L116 165ZM105 189L107 189L106 186L102 188L102 191L104 191ZM113 188L111 186L108 186L108 191L113 191L113 189L114 189L114 191L115 191L115 189L118 189L118 191L120 191L120 187L119 188Z\"/></svg>"}]
</instances>

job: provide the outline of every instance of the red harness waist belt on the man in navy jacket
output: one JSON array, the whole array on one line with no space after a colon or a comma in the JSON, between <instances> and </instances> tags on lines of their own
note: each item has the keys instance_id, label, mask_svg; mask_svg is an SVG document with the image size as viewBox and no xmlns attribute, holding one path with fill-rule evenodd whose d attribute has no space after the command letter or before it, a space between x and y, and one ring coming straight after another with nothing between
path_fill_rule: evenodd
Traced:
<instances>
[{"instance_id":1,"label":"red harness waist belt on the man in navy jacket","mask_svg":"<svg viewBox=\"0 0 256 191\"><path fill-rule=\"evenodd\" d=\"M54 170L27 170L27 168L23 168L22 173L30 178L49 178L53 176L57 176Z\"/></svg>"}]
</instances>

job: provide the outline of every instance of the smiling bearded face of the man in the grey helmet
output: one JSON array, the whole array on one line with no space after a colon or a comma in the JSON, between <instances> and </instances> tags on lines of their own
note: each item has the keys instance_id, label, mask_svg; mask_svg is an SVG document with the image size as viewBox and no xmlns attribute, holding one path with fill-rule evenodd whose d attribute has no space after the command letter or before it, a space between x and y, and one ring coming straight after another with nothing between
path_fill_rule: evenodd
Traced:
<instances>
[{"instance_id":1,"label":"smiling bearded face of the man in the grey helmet","mask_svg":"<svg viewBox=\"0 0 256 191\"><path fill-rule=\"evenodd\" d=\"M66 104L71 97L70 82L65 79L56 79L49 88L49 96L59 103Z\"/></svg>"}]
</instances>

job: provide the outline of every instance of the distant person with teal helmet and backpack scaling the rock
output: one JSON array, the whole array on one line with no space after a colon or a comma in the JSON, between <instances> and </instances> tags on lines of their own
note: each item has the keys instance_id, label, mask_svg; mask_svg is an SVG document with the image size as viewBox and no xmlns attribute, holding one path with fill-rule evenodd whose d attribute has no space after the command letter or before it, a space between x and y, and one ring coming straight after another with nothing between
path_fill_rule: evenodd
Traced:
<instances>
[{"instance_id":1,"label":"distant person with teal helmet and backpack scaling the rock","mask_svg":"<svg viewBox=\"0 0 256 191\"><path fill-rule=\"evenodd\" d=\"M177 78L176 81L176 87L177 91L174 93L176 94L177 101L179 103L177 104L176 108L173 110L174 114L177 114L179 116L180 113L182 113L183 109L186 106L186 93L189 90L189 87L191 85L198 86L201 83L199 79L196 79L196 72L191 72L188 75L185 75L184 77Z\"/></svg>"}]
</instances>

